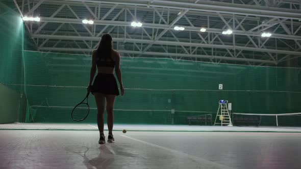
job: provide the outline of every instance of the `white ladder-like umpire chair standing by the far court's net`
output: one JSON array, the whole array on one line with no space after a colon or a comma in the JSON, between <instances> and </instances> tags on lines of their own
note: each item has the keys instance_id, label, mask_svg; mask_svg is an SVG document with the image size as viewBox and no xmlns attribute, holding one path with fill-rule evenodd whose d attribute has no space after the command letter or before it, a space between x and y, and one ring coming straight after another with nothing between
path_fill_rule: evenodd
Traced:
<instances>
[{"instance_id":1,"label":"white ladder-like umpire chair standing by the far court's net","mask_svg":"<svg viewBox=\"0 0 301 169\"><path fill-rule=\"evenodd\" d=\"M219 101L218 110L217 110L216 118L214 121L214 126L216 124L218 124L218 125L220 124L221 126L225 126L225 125L233 126L227 104L228 104L228 100ZM217 118L218 118L218 121L217 121Z\"/></svg>"}]
</instances>

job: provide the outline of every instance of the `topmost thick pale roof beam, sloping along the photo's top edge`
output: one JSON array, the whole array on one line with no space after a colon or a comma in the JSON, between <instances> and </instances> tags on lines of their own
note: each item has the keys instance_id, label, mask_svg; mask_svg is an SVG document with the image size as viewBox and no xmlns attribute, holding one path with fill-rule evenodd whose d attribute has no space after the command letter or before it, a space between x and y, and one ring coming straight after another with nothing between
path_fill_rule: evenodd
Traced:
<instances>
[{"instance_id":1,"label":"topmost thick pale roof beam, sloping along the photo's top edge","mask_svg":"<svg viewBox=\"0 0 301 169\"><path fill-rule=\"evenodd\" d=\"M172 8L179 10L219 12L238 15L276 17L287 19L301 19L299 10L265 7L257 5L232 4L224 2L201 1L197 4L183 1L138 1L138 0L114 0L114 1L91 1L91 0L62 0L66 2L86 2L86 3L104 3L104 4L121 4L132 6L145 6L156 8Z\"/></svg>"}]
</instances>

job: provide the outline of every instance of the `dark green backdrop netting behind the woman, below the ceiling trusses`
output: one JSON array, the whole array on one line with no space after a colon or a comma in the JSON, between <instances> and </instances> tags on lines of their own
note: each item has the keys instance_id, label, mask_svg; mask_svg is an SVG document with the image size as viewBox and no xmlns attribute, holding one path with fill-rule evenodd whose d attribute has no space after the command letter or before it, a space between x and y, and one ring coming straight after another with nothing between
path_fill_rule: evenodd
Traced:
<instances>
[{"instance_id":1,"label":"dark green backdrop netting behind the woman, below the ceiling trusses","mask_svg":"<svg viewBox=\"0 0 301 169\"><path fill-rule=\"evenodd\" d=\"M71 109L86 94L90 63L87 55L24 51L26 122L72 122ZM188 124L188 116L216 114L220 99L232 102L234 112L278 114L301 108L297 68L122 58L121 70L126 95L116 99L115 123L171 124L174 109L174 124ZM96 122L92 95L89 103L84 122Z\"/></svg>"}]
</instances>

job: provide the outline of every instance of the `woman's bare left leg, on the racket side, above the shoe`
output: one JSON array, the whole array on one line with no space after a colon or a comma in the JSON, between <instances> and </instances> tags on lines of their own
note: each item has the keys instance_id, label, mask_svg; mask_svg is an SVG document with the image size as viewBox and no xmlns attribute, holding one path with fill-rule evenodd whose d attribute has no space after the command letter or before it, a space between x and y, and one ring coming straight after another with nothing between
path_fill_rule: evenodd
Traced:
<instances>
[{"instance_id":1,"label":"woman's bare left leg, on the racket side, above the shoe","mask_svg":"<svg viewBox=\"0 0 301 169\"><path fill-rule=\"evenodd\" d=\"M104 133L104 112L105 112L105 95L102 93L94 93L97 105L97 126L99 133Z\"/></svg>"}]
</instances>

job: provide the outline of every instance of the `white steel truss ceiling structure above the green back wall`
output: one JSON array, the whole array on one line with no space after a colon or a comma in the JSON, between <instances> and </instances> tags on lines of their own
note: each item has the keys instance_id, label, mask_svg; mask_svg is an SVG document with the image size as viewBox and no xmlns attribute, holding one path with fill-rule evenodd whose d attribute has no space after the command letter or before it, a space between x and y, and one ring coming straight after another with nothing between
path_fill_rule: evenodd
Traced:
<instances>
[{"instance_id":1,"label":"white steel truss ceiling structure above the green back wall","mask_svg":"<svg viewBox=\"0 0 301 169\"><path fill-rule=\"evenodd\" d=\"M41 18L24 22L39 51L87 54L111 33L124 57L273 66L301 57L301 3L294 0L13 1L21 16ZM86 18L94 24L83 24ZM132 21L143 25L133 28ZM174 31L175 25L185 30ZM232 35L221 34L228 29Z\"/></svg>"}]
</instances>

